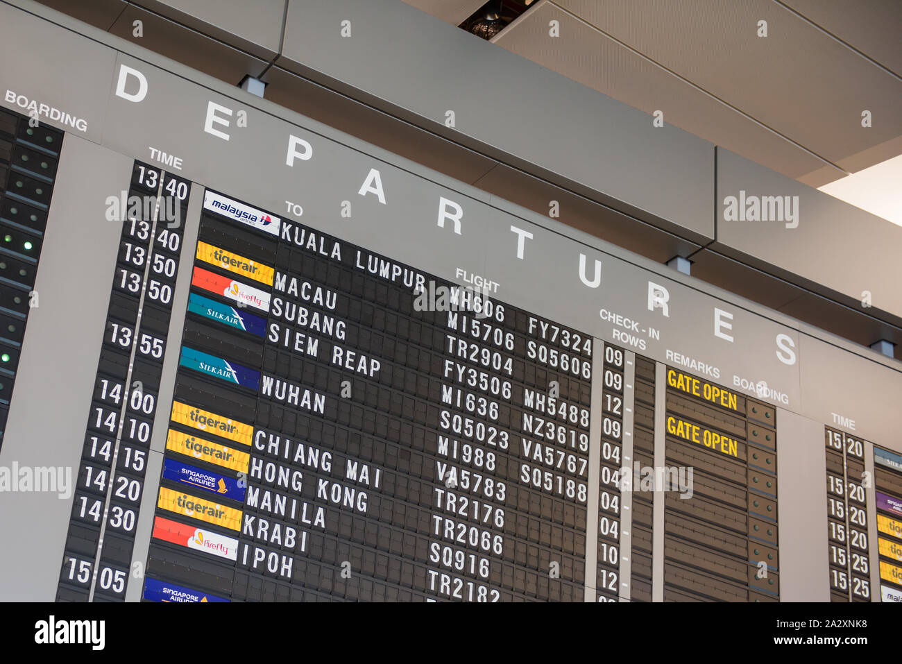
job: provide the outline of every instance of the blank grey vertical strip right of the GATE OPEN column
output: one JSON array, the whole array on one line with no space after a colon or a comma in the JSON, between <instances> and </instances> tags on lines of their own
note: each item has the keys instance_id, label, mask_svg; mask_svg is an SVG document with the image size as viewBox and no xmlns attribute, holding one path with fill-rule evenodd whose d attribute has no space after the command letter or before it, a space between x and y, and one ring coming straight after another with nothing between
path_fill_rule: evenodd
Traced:
<instances>
[{"instance_id":1,"label":"blank grey vertical strip right of the GATE OPEN column","mask_svg":"<svg viewBox=\"0 0 902 664\"><path fill-rule=\"evenodd\" d=\"M829 602L824 423L778 409L777 426L780 601Z\"/></svg>"}]
</instances>

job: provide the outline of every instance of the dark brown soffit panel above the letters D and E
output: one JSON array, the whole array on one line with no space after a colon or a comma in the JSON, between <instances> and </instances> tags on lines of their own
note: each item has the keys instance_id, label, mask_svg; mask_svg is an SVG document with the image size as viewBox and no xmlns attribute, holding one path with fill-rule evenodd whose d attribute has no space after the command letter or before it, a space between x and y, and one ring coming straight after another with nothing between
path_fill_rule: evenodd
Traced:
<instances>
[{"instance_id":1,"label":"dark brown soffit panel above the letters D and E","mask_svg":"<svg viewBox=\"0 0 902 664\"><path fill-rule=\"evenodd\" d=\"M133 23L137 20L143 21L143 37L133 34ZM260 76L266 68L265 60L216 42L135 5L125 9L109 32L151 51L165 53L168 58L232 85L238 85L247 75Z\"/></svg>"}]
</instances>

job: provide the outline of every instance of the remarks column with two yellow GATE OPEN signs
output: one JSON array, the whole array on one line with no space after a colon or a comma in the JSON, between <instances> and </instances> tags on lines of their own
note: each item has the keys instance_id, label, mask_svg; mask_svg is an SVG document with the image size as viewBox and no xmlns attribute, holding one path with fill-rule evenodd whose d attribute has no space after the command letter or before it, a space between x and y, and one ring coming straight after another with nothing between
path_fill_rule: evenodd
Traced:
<instances>
[{"instance_id":1,"label":"remarks column with two yellow GATE OPEN signs","mask_svg":"<svg viewBox=\"0 0 902 664\"><path fill-rule=\"evenodd\" d=\"M667 367L664 596L727 602L779 596L776 410Z\"/></svg>"}]
</instances>

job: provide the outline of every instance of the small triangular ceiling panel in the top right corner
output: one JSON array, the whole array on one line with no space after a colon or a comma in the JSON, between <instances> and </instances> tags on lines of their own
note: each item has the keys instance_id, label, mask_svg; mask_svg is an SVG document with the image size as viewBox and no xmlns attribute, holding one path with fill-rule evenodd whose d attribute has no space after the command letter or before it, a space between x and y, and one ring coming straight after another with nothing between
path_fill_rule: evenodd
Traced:
<instances>
[{"instance_id":1,"label":"small triangular ceiling panel in the top right corner","mask_svg":"<svg viewBox=\"0 0 902 664\"><path fill-rule=\"evenodd\" d=\"M902 76L899 0L778 0Z\"/></svg>"}]
</instances>

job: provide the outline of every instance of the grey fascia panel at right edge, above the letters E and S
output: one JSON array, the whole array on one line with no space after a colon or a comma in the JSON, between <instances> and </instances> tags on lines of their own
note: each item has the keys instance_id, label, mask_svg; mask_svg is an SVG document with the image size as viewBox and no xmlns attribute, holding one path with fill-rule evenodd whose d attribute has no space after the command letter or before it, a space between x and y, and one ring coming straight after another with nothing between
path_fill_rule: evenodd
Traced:
<instances>
[{"instance_id":1,"label":"grey fascia panel at right edge, above the letters E and S","mask_svg":"<svg viewBox=\"0 0 902 664\"><path fill-rule=\"evenodd\" d=\"M780 221L727 221L727 197L797 197L798 226ZM717 151L717 242L724 254L746 254L859 301L902 316L902 226L790 180L737 154ZM737 205L739 201L737 200ZM750 205L750 202L748 203ZM748 207L748 206L747 206ZM867 257L866 259L864 257ZM870 313L866 311L866 313Z\"/></svg>"}]
</instances>

